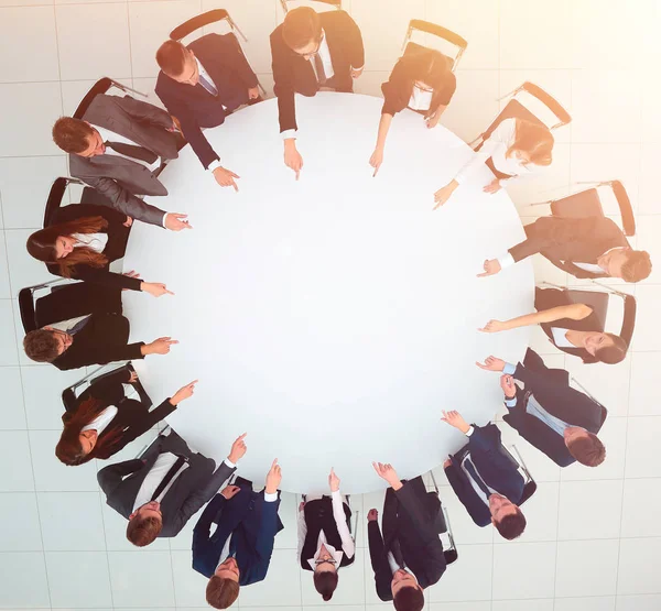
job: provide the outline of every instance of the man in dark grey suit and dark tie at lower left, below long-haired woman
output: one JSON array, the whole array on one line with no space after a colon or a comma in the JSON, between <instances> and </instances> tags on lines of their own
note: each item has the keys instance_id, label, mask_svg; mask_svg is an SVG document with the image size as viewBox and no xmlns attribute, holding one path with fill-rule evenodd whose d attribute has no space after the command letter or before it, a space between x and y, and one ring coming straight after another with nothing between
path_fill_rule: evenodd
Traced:
<instances>
[{"instance_id":1,"label":"man in dark grey suit and dark tie at lower left, below long-haired woman","mask_svg":"<svg viewBox=\"0 0 661 611\"><path fill-rule=\"evenodd\" d=\"M141 458L104 467L97 480L106 504L129 521L127 538L144 547L156 537L175 537L236 471L246 454L245 437L235 440L218 468L174 430L161 435Z\"/></svg>"}]
</instances>

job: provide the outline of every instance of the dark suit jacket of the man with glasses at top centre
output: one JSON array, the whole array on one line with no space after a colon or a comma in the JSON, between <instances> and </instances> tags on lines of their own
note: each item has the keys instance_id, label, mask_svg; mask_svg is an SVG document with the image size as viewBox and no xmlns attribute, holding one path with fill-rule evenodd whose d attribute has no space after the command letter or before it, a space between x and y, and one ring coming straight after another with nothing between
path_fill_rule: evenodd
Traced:
<instances>
[{"instance_id":1,"label":"dark suit jacket of the man with glasses at top centre","mask_svg":"<svg viewBox=\"0 0 661 611\"><path fill-rule=\"evenodd\" d=\"M337 91L353 91L351 67L365 65L360 30L345 11L319 13L319 18L333 63L333 85ZM308 62L286 46L282 37L282 24L271 33L271 56L280 131L299 129L294 94L314 96L318 90L312 59Z\"/></svg>"}]
</instances>

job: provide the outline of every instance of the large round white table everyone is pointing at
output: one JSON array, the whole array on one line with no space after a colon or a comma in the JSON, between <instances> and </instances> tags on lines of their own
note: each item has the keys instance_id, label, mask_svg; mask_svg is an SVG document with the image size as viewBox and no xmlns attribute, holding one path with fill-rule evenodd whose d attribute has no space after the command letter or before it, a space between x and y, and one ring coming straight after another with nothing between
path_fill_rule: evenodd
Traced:
<instances>
[{"instance_id":1,"label":"large round white table everyone is pointing at","mask_svg":"<svg viewBox=\"0 0 661 611\"><path fill-rule=\"evenodd\" d=\"M532 308L529 261L476 277L523 239L514 206L503 190L483 193L485 166L432 211L472 153L409 110L373 178L381 103L297 96L299 182L283 163L277 100L236 112L205 134L241 176L239 193L186 146L161 175L167 197L149 201L187 212L194 229L131 232L124 269L176 293L124 292L131 338L181 342L137 362L141 380L159 402L198 378L169 423L216 460L248 432L239 472L256 484L275 457L292 492L326 491L330 467L343 492L383 488L372 460L401 478L426 472L465 443L442 410L485 424L501 405L498 375L475 361L517 362L529 342L527 329L477 331Z\"/></svg>"}]
</instances>

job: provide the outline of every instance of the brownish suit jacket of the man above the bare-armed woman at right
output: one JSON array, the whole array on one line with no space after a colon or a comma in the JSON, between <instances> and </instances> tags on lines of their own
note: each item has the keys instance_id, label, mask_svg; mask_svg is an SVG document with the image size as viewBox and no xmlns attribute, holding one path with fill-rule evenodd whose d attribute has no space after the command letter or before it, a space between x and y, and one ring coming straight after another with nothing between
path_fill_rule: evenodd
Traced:
<instances>
[{"instance_id":1,"label":"brownish suit jacket of the man above the bare-armed woman at right","mask_svg":"<svg viewBox=\"0 0 661 611\"><path fill-rule=\"evenodd\" d=\"M574 262L596 264L607 250L629 246L621 229L606 217L542 217L524 229L525 240L509 249L514 261L540 252L556 268L576 277L596 279L607 274L586 272Z\"/></svg>"}]
</instances>

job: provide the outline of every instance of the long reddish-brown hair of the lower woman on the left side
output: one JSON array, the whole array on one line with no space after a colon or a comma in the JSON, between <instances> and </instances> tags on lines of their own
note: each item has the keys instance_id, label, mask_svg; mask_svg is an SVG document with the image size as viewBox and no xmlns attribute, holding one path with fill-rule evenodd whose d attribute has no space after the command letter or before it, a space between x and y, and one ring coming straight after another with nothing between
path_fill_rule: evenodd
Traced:
<instances>
[{"instance_id":1,"label":"long reddish-brown hair of the lower woman on the left side","mask_svg":"<svg viewBox=\"0 0 661 611\"><path fill-rule=\"evenodd\" d=\"M85 426L93 422L105 408L101 401L89 397L83 401L74 413L66 412L62 416L64 430L59 436L59 441L55 446L55 456L65 465L83 465L93 458L109 458L115 454L113 446L121 439L122 428L113 427L104 430L102 435L97 437L96 445L87 455L83 454L80 444L80 433Z\"/></svg>"}]
</instances>

